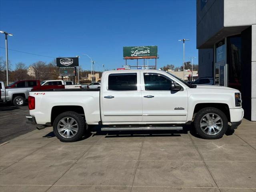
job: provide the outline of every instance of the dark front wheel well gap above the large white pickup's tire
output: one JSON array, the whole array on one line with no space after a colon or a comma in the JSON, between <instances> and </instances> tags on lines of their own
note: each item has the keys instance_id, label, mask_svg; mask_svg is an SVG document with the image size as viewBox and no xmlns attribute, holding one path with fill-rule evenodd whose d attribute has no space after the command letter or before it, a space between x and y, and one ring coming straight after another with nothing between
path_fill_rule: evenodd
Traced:
<instances>
[{"instance_id":1,"label":"dark front wheel well gap above the large white pickup's tire","mask_svg":"<svg viewBox=\"0 0 256 192\"><path fill-rule=\"evenodd\" d=\"M207 107L214 107L214 108L221 110L227 116L228 122L230 122L229 107L227 104L224 104L224 103L199 103L199 104L196 104L193 114L195 115L199 110L201 110L202 108L207 108ZM193 115L193 118L194 118L194 115Z\"/></svg>"}]
</instances>

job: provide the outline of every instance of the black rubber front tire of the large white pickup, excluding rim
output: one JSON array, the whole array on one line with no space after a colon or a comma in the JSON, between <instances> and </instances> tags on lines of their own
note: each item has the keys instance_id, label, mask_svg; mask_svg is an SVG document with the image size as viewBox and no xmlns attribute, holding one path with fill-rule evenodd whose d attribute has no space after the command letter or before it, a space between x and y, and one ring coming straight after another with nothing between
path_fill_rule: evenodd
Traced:
<instances>
[{"instance_id":1,"label":"black rubber front tire of the large white pickup, excluding rim","mask_svg":"<svg viewBox=\"0 0 256 192\"><path fill-rule=\"evenodd\" d=\"M222 129L220 130L220 132L218 132L217 134L214 134L214 135L206 134L201 129L201 126L200 126L201 119L206 114L209 114L209 113L213 113L213 114L218 115L221 118L222 123L223 123ZM221 138L225 134L225 132L227 131L227 129L228 129L228 119L227 119L226 115L221 110L219 110L217 108L214 108L214 107L203 108L203 109L201 109L200 111L197 112L197 114L194 118L194 126L195 126L196 133L200 137L202 137L204 139L218 139L218 138Z\"/></svg>"}]
</instances>

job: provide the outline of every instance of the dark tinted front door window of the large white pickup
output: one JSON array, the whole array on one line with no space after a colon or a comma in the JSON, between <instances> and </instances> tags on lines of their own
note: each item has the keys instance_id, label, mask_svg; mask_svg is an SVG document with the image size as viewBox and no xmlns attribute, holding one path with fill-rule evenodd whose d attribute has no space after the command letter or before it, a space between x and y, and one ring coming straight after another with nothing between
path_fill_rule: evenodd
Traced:
<instances>
[{"instance_id":1,"label":"dark tinted front door window of the large white pickup","mask_svg":"<svg viewBox=\"0 0 256 192\"><path fill-rule=\"evenodd\" d=\"M159 74L144 73L145 90L168 91L171 90L172 81Z\"/></svg>"}]
</instances>

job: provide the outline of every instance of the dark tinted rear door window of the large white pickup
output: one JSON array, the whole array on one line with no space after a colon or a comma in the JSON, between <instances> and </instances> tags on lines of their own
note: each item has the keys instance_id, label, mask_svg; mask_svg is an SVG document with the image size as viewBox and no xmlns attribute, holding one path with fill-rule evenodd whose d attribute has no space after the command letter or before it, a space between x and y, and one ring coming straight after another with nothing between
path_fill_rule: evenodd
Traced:
<instances>
[{"instance_id":1,"label":"dark tinted rear door window of the large white pickup","mask_svg":"<svg viewBox=\"0 0 256 192\"><path fill-rule=\"evenodd\" d=\"M136 73L110 74L108 76L108 90L136 91L137 90L137 74Z\"/></svg>"}]
</instances>

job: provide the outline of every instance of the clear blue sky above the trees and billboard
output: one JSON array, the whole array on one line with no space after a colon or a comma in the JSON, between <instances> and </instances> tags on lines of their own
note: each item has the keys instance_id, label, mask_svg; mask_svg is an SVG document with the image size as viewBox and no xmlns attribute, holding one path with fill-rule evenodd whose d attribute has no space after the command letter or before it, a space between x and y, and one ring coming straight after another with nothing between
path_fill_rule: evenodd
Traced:
<instances>
[{"instance_id":1,"label":"clear blue sky above the trees and billboard","mask_svg":"<svg viewBox=\"0 0 256 192\"><path fill-rule=\"evenodd\" d=\"M12 68L17 62L29 66L82 54L95 60L95 70L102 70L102 64L106 69L119 68L125 63L123 46L148 45L158 46L158 68L181 66L183 48L178 39L182 38L190 39L186 60L198 57L195 0L0 0L0 30L14 34L8 36L9 49L53 57L10 50ZM3 34L0 47L5 47ZM3 48L0 56L5 60ZM79 63L90 69L86 56Z\"/></svg>"}]
</instances>

